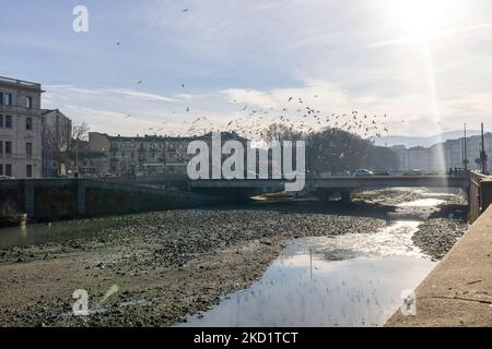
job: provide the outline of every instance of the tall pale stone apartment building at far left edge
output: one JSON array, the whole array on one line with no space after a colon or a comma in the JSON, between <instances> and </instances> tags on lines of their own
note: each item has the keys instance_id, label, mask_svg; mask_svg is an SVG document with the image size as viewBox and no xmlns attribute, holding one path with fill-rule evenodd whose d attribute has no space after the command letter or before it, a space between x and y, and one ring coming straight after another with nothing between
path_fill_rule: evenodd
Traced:
<instances>
[{"instance_id":1,"label":"tall pale stone apartment building at far left edge","mask_svg":"<svg viewBox=\"0 0 492 349\"><path fill-rule=\"evenodd\" d=\"M42 86L0 76L0 176L42 177Z\"/></svg>"}]
</instances>

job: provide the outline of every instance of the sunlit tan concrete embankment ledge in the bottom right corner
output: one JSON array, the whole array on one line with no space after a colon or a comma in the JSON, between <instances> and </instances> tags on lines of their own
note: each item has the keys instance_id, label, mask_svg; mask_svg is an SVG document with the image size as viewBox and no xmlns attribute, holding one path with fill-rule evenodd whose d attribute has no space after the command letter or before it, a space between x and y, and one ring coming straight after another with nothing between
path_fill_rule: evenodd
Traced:
<instances>
[{"instance_id":1,"label":"sunlit tan concrete embankment ledge in the bottom right corner","mask_svg":"<svg viewBox=\"0 0 492 349\"><path fill-rule=\"evenodd\" d=\"M386 326L492 326L492 206L418 287L417 315Z\"/></svg>"}]
</instances>

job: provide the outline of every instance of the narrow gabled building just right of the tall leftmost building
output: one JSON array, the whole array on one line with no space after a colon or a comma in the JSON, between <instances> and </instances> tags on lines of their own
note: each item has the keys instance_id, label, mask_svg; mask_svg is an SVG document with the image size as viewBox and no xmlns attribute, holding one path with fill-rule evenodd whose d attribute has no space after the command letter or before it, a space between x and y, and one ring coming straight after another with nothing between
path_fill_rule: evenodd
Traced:
<instances>
[{"instance_id":1,"label":"narrow gabled building just right of the tall leftmost building","mask_svg":"<svg viewBox=\"0 0 492 349\"><path fill-rule=\"evenodd\" d=\"M58 109L43 109L43 177L67 174L71 139L72 121Z\"/></svg>"}]
</instances>

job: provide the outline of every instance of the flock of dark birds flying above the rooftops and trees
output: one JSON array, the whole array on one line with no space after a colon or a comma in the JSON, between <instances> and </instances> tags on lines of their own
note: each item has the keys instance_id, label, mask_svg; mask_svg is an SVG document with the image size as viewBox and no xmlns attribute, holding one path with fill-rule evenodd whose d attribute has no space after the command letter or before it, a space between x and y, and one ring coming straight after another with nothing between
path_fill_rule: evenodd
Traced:
<instances>
[{"instance_id":1,"label":"flock of dark birds flying above the rooftops and trees","mask_svg":"<svg viewBox=\"0 0 492 349\"><path fill-rule=\"evenodd\" d=\"M183 13L188 12L189 9L184 9ZM121 41L116 43L121 46ZM142 85L143 81L137 81L137 85ZM185 84L180 84L181 88L186 88ZM246 91L250 93L251 91ZM318 95L313 96L314 99L319 98ZM231 103L237 104L237 100ZM187 106L184 108L186 113L191 113L191 108ZM355 133L366 139L382 137L389 134L389 125L387 123L387 116L367 116L360 115L358 111L352 111L350 115L335 115L326 113L318 108L313 108L307 105L307 100L302 97L289 97L282 107L278 108L257 108L255 106L242 106L238 109L239 116L218 125L216 122L209 120L207 117L187 118L180 123L180 127L175 128L169 132L169 128L165 127L169 122L162 122L159 127L149 128L144 130L147 134L151 131L159 135L165 132L166 135L199 135L207 134L211 131L234 132L254 141L265 140L267 136L267 129L272 124L281 124L283 130L292 133L308 134L326 128L339 129L347 132ZM172 113L176 113L172 110ZM132 118L127 115L125 119ZM405 120L402 120L405 122Z\"/></svg>"}]
</instances>

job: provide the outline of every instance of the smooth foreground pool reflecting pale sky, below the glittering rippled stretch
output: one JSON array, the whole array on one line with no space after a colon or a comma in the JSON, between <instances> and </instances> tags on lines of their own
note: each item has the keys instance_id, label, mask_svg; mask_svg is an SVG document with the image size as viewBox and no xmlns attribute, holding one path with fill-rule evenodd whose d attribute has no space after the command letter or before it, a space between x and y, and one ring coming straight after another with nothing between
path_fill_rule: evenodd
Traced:
<instances>
[{"instance_id":1,"label":"smooth foreground pool reflecting pale sky, below the glittering rippled stretch","mask_svg":"<svg viewBox=\"0 0 492 349\"><path fill-rule=\"evenodd\" d=\"M410 256L333 252L286 252L260 281L180 326L380 326L401 304L401 291L413 289L434 266Z\"/></svg>"}]
</instances>

